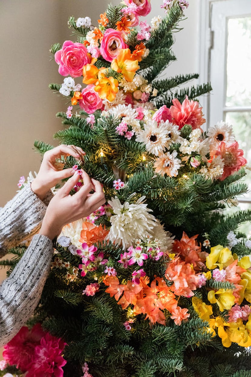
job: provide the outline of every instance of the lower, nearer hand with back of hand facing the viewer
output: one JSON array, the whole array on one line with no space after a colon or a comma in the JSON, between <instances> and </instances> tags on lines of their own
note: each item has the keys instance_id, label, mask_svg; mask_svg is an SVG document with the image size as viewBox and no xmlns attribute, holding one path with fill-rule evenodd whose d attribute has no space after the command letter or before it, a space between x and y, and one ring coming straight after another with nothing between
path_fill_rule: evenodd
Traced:
<instances>
[{"instance_id":1,"label":"lower, nearer hand with back of hand facing the viewer","mask_svg":"<svg viewBox=\"0 0 251 377\"><path fill-rule=\"evenodd\" d=\"M75 173L51 199L42 222L39 234L50 239L59 235L65 224L90 215L106 202L100 182L90 179L82 170L83 186L73 196L69 195L79 180ZM94 190L94 193L90 193Z\"/></svg>"}]
</instances>

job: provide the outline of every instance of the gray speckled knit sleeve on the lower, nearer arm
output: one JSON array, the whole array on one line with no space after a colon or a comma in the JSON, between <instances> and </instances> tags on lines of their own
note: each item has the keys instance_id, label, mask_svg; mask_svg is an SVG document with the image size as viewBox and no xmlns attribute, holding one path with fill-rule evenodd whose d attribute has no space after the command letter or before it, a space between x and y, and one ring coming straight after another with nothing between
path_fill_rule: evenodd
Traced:
<instances>
[{"instance_id":1,"label":"gray speckled knit sleeve on the lower, nearer arm","mask_svg":"<svg viewBox=\"0 0 251 377\"><path fill-rule=\"evenodd\" d=\"M36 234L0 287L0 346L11 340L38 305L53 255L52 241Z\"/></svg>"}]
</instances>

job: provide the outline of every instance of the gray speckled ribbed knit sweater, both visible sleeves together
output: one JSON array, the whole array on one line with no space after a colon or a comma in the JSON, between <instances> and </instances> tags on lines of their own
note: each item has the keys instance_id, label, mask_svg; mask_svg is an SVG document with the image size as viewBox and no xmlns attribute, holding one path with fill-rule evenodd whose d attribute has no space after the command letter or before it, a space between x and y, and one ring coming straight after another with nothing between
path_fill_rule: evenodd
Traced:
<instances>
[{"instance_id":1,"label":"gray speckled ribbed knit sweater, both visible sleeves together","mask_svg":"<svg viewBox=\"0 0 251 377\"><path fill-rule=\"evenodd\" d=\"M39 229L52 196L50 192L41 201L28 184L0 208L0 257ZM17 334L35 310L52 255L51 240L35 234L12 274L0 286L0 346Z\"/></svg>"}]
</instances>

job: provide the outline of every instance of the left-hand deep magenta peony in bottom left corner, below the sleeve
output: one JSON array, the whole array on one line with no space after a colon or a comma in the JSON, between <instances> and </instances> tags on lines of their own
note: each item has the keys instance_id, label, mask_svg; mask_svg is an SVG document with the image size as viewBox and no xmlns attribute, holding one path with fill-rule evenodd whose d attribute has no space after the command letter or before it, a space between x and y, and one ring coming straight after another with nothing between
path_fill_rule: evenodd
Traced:
<instances>
[{"instance_id":1,"label":"left-hand deep magenta peony in bottom left corner, below the sleeve","mask_svg":"<svg viewBox=\"0 0 251 377\"><path fill-rule=\"evenodd\" d=\"M17 365L22 372L26 372L33 362L35 347L40 344L41 338L45 335L40 323L37 323L31 330L23 326L17 335L5 345L3 357L10 365Z\"/></svg>"}]
</instances>

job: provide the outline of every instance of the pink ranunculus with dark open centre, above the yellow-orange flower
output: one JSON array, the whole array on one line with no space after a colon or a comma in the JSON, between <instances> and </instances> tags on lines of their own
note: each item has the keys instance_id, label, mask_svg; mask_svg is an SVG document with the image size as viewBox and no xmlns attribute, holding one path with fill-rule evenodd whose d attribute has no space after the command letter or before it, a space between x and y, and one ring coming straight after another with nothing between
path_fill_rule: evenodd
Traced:
<instances>
[{"instance_id":1,"label":"pink ranunculus with dark open centre, above the yellow-orange flower","mask_svg":"<svg viewBox=\"0 0 251 377\"><path fill-rule=\"evenodd\" d=\"M124 41L125 34L122 31L106 29L103 39L100 43L100 54L107 61L113 61L120 49L126 49L129 46Z\"/></svg>"}]
</instances>

